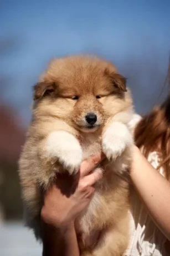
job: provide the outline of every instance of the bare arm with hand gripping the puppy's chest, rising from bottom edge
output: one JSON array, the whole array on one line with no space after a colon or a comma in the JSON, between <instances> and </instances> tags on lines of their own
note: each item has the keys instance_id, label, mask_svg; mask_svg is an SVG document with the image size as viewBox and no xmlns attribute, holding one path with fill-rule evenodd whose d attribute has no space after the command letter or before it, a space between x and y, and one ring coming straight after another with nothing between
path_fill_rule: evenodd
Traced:
<instances>
[{"instance_id":1,"label":"bare arm with hand gripping the puppy's chest, rising from bottom edge","mask_svg":"<svg viewBox=\"0 0 170 256\"><path fill-rule=\"evenodd\" d=\"M56 185L51 186L45 194L41 213L44 231L43 256L80 255L74 221L89 205L95 191L93 185L102 177L102 171L95 169L102 158L99 154L81 164L79 182L71 195L61 193ZM65 184L64 176L60 177L59 183Z\"/></svg>"}]
</instances>

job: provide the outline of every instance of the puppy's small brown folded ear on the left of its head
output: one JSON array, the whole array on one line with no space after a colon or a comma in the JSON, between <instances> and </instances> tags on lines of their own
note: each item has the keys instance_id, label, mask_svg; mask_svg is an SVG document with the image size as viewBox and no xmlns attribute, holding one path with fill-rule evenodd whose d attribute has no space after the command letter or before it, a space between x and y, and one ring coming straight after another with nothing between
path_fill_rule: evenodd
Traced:
<instances>
[{"instance_id":1,"label":"puppy's small brown folded ear on the left of its head","mask_svg":"<svg viewBox=\"0 0 170 256\"><path fill-rule=\"evenodd\" d=\"M34 85L34 100L40 100L45 96L54 96L56 91L55 83L38 82Z\"/></svg>"}]
</instances>

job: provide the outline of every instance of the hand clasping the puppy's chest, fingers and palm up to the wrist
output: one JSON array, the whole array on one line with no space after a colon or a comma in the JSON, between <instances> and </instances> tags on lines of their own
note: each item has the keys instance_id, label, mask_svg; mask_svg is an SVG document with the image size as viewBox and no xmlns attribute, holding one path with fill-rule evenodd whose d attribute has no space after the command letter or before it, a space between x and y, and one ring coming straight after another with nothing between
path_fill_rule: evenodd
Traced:
<instances>
[{"instance_id":1,"label":"hand clasping the puppy's chest, fingers and palm up to the wrist","mask_svg":"<svg viewBox=\"0 0 170 256\"><path fill-rule=\"evenodd\" d=\"M50 187L44 195L44 205L41 211L45 223L54 227L67 226L73 223L75 218L86 209L95 191L94 184L102 178L102 170L97 168L102 159L104 159L104 155L97 154L83 161L79 177L77 177L78 183L69 196L63 194L56 184ZM71 176L59 176L58 184L64 184L65 179L71 179Z\"/></svg>"}]
</instances>

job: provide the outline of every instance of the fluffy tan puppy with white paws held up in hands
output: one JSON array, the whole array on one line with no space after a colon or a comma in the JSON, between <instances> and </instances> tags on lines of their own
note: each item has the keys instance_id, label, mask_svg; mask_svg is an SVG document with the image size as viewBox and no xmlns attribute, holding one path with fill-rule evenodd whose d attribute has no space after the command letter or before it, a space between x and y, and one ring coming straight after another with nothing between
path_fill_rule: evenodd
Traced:
<instances>
[{"instance_id":1,"label":"fluffy tan puppy with white paws held up in hands","mask_svg":"<svg viewBox=\"0 0 170 256\"><path fill-rule=\"evenodd\" d=\"M121 256L128 244L128 181L132 99L112 63L92 56L52 60L34 87L33 117L19 160L27 225L40 238L42 190L58 173L78 173L83 159L103 151L103 177L76 220L81 255ZM101 231L97 244L86 243Z\"/></svg>"}]
</instances>

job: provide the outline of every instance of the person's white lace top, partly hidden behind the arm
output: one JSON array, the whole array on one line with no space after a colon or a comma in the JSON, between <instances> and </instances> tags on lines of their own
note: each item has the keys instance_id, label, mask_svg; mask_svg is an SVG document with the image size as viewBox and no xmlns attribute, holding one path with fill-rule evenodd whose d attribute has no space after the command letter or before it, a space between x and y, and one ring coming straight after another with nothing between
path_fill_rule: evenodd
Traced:
<instances>
[{"instance_id":1,"label":"person's white lace top, partly hidden behind the arm","mask_svg":"<svg viewBox=\"0 0 170 256\"><path fill-rule=\"evenodd\" d=\"M141 117L135 114L130 124L131 127L135 127L140 119ZM150 161L154 168L157 168L159 165L157 152L151 152L148 161ZM163 175L162 169L160 173ZM132 190L130 244L125 256L168 256L164 249L165 242L166 238L152 221L135 190Z\"/></svg>"}]
</instances>

